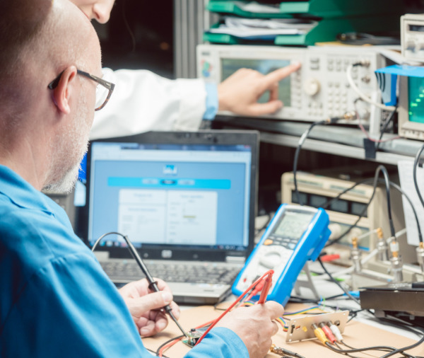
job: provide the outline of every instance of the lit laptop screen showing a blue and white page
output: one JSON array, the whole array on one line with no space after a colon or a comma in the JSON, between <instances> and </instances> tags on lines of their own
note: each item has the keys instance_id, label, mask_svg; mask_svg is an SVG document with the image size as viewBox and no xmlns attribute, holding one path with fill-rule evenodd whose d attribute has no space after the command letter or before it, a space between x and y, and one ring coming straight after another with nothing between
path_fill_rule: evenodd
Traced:
<instances>
[{"instance_id":1,"label":"lit laptop screen showing a blue and white page","mask_svg":"<svg viewBox=\"0 0 424 358\"><path fill-rule=\"evenodd\" d=\"M249 146L93 142L88 239L110 231L134 246L244 250Z\"/></svg>"}]
</instances>

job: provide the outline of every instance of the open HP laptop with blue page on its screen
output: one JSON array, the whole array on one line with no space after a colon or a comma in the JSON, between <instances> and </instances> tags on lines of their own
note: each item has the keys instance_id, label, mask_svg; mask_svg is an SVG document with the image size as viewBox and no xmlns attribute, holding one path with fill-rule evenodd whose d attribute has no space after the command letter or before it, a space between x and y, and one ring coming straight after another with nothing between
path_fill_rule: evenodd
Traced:
<instances>
[{"instance_id":1,"label":"open HP laptop with blue page on its screen","mask_svg":"<svg viewBox=\"0 0 424 358\"><path fill-rule=\"evenodd\" d=\"M126 235L180 304L230 293L254 245L259 133L147 132L98 139L87 156L88 246ZM125 241L95 253L112 282L144 277Z\"/></svg>"}]
</instances>

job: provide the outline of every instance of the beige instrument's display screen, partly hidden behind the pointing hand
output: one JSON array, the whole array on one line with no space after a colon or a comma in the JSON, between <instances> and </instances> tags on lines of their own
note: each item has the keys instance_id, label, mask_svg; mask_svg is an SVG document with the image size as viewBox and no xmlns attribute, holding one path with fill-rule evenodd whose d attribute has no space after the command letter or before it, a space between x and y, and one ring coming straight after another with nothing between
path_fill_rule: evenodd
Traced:
<instances>
[{"instance_id":1,"label":"beige instrument's display screen, partly hidden behind the pointing hand","mask_svg":"<svg viewBox=\"0 0 424 358\"><path fill-rule=\"evenodd\" d=\"M221 59L221 81L224 81L237 69L256 69L261 74L269 74L289 64L290 61L285 59ZM265 103L268 99L268 93L265 93L259 98L259 102ZM290 107L290 76L278 83L278 99L283 101L285 107Z\"/></svg>"}]
</instances>

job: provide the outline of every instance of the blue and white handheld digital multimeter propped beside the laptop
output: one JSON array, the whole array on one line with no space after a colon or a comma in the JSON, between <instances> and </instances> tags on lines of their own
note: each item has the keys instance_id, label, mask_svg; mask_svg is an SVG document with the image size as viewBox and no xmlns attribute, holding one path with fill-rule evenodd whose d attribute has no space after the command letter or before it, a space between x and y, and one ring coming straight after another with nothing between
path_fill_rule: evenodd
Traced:
<instances>
[{"instance_id":1,"label":"blue and white handheld digital multimeter propped beside the laptop","mask_svg":"<svg viewBox=\"0 0 424 358\"><path fill-rule=\"evenodd\" d=\"M281 204L232 285L242 294L259 276L273 270L267 300L286 304L307 260L316 260L331 231L324 209ZM258 299L259 296L255 296Z\"/></svg>"}]
</instances>

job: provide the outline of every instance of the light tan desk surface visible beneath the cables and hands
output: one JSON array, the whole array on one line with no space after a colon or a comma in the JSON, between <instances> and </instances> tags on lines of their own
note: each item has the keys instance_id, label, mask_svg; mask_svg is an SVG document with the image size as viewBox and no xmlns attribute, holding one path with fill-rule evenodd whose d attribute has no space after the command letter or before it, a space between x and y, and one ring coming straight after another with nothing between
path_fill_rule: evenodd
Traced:
<instances>
[{"instance_id":1,"label":"light tan desk surface visible beneath the cables and hands","mask_svg":"<svg viewBox=\"0 0 424 358\"><path fill-rule=\"evenodd\" d=\"M298 309L305 308L305 306L300 306L298 304L288 304L285 307L285 311L297 311ZM199 306L196 308L190 308L182 311L181 318L179 318L179 323L187 331L190 328L201 325L217 318L222 311L216 311L213 309L213 306ZM293 316L292 316L293 317ZM296 316L300 318L302 316ZM143 338L143 344L151 349L157 350L157 348L167 340L170 340L172 337L181 335L180 331L177 328L177 325L170 321L168 327L162 333L156 335L155 337ZM367 347L375 345L389 345L392 347L406 347L407 345L413 344L414 340L411 340L407 337L397 335L395 333L388 332L387 330L382 330L380 328L375 328L372 325L367 325L365 323L360 323L358 321L351 321L346 325L346 328L343 333L345 342L352 347ZM285 332L280 326L280 330L273 337L273 343L275 345L285 347L288 350L293 352L298 352L305 358L317 358L317 357L342 357L341 354L332 352L328 348L324 347L321 342L318 340L307 340L302 342L293 342L285 343ZM184 345L182 342L177 342L176 345L170 347L166 350L164 355L170 358L180 358L184 357L190 350L187 345ZM424 344L420 345L413 350L407 351L409 354L424 356ZM366 353L354 353L355 357L381 357L385 352L376 352L376 351L367 351ZM269 353L266 355L266 358L275 358L281 357L278 354ZM393 357L403 357L401 354L396 354ZM253 357L252 357L253 358Z\"/></svg>"}]
</instances>

